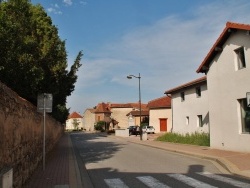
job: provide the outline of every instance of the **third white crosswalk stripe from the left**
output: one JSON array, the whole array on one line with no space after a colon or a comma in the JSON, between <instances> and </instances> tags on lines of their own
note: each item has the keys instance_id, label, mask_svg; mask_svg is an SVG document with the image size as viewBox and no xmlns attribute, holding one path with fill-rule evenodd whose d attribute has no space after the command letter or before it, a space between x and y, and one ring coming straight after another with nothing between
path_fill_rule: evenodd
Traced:
<instances>
[{"instance_id":1,"label":"third white crosswalk stripe from the left","mask_svg":"<svg viewBox=\"0 0 250 188\"><path fill-rule=\"evenodd\" d=\"M192 187L197 187L197 188L215 188L212 185L209 185L207 183L201 182L199 180L196 180L194 178L182 175L182 174L167 174L167 176L174 178L176 180L179 180L187 185L190 185Z\"/></svg>"}]
</instances>

